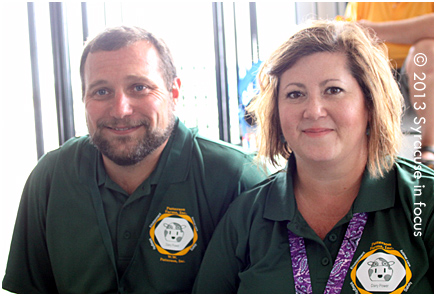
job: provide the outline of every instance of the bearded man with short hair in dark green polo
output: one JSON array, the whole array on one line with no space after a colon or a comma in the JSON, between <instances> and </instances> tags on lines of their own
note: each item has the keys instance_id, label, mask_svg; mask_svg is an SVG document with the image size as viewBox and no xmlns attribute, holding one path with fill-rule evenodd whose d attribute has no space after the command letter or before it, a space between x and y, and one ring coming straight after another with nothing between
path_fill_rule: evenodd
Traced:
<instances>
[{"instance_id":1,"label":"bearded man with short hair in dark green polo","mask_svg":"<svg viewBox=\"0 0 436 296\"><path fill-rule=\"evenodd\" d=\"M264 175L174 116L181 82L151 33L103 32L80 69L89 136L48 153L30 175L3 288L190 293L227 206Z\"/></svg>"}]
</instances>

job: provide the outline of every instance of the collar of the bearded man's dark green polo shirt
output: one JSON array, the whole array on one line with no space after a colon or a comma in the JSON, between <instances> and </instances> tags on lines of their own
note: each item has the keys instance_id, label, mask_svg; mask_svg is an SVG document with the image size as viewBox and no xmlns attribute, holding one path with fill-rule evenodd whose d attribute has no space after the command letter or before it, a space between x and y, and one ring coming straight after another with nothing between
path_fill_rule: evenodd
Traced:
<instances>
[{"instance_id":1,"label":"collar of the bearded man's dark green polo shirt","mask_svg":"<svg viewBox=\"0 0 436 296\"><path fill-rule=\"evenodd\" d=\"M192 155L192 153L190 153L192 150L192 137L191 130L176 118L174 131L162 151L156 169L146 180L149 180L150 185L156 185L160 181L178 183L187 178ZM181 157L182 155L183 157ZM97 185L101 186L106 182L107 174L101 153L98 152L96 156L96 181ZM170 170L171 174L163 174L166 170ZM171 177L168 177L168 175L171 175ZM164 180L160 180L161 178Z\"/></svg>"}]
</instances>

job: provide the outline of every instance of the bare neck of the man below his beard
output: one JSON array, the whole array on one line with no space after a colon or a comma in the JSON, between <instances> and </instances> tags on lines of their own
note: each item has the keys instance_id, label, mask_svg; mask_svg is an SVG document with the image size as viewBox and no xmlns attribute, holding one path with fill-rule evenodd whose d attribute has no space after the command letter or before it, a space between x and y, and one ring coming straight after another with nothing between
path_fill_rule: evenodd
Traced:
<instances>
[{"instance_id":1,"label":"bare neck of the man below his beard","mask_svg":"<svg viewBox=\"0 0 436 296\"><path fill-rule=\"evenodd\" d=\"M120 185L129 195L132 194L139 185L150 177L167 142L168 140L143 160L131 166L117 165L103 155L103 163L107 174L112 181Z\"/></svg>"}]
</instances>

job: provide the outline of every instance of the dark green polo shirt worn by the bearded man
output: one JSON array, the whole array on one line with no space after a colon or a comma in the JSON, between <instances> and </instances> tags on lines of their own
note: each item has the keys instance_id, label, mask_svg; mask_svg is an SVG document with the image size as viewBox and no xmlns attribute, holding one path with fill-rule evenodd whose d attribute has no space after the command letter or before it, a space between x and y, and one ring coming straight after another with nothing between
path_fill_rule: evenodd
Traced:
<instances>
[{"instance_id":1,"label":"dark green polo shirt worn by the bearded man","mask_svg":"<svg viewBox=\"0 0 436 296\"><path fill-rule=\"evenodd\" d=\"M88 137L48 153L23 191L3 288L19 293L190 293L228 205L264 179L252 157L178 122L130 196Z\"/></svg>"}]
</instances>

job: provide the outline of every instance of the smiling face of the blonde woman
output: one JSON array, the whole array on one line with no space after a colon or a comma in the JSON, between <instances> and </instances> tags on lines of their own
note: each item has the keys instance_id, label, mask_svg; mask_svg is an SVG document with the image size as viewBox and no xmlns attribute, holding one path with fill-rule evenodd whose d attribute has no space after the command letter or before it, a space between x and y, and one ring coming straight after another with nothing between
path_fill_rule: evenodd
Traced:
<instances>
[{"instance_id":1,"label":"smiling face of the blonde woman","mask_svg":"<svg viewBox=\"0 0 436 296\"><path fill-rule=\"evenodd\" d=\"M280 77L283 135L300 160L348 161L367 156L368 110L342 53L315 53Z\"/></svg>"}]
</instances>

